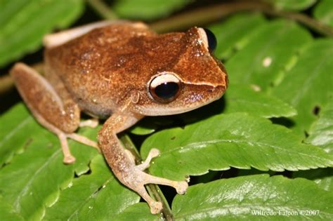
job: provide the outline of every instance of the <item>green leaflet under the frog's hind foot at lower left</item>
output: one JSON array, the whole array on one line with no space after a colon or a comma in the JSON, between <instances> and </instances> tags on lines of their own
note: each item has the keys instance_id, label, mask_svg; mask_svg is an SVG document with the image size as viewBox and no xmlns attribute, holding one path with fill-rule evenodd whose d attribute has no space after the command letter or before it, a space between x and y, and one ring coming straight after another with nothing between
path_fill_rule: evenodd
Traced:
<instances>
[{"instance_id":1,"label":"green leaflet under the frog's hind foot at lower left","mask_svg":"<svg viewBox=\"0 0 333 221\"><path fill-rule=\"evenodd\" d=\"M18 105L7 115L8 119L14 119L22 113L22 105ZM27 118L30 119L30 116ZM27 121L23 119L23 122ZM0 170L0 193L4 201L13 207L13 212L18 213L26 219L39 220L46 206L52 205L57 199L60 189L67 187L77 175L89 170L90 159L98 154L96 149L86 147L70 140L69 145L76 163L72 165L63 164L63 153L58 138L37 124L29 120L31 128L25 130L25 126L15 129L2 148L18 149L22 141L28 140L22 154L15 156L11 163ZM8 124L10 126L11 123ZM15 125L15 124L14 124ZM29 128L28 128L29 129ZM97 128L83 129L81 134L89 138L96 138ZM10 145L9 147L7 145Z\"/></svg>"}]
</instances>

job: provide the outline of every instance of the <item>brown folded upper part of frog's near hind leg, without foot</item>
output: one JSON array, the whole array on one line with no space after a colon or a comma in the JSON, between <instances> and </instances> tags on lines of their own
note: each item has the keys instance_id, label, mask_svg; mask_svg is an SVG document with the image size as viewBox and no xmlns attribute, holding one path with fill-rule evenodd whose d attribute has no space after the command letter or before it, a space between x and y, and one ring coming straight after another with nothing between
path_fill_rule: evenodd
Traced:
<instances>
[{"instance_id":1,"label":"brown folded upper part of frog's near hind leg, without foot","mask_svg":"<svg viewBox=\"0 0 333 221\"><path fill-rule=\"evenodd\" d=\"M80 110L73 100L61 100L51 84L27 65L16 64L11 70L11 75L20 95L38 121L43 118L65 133L77 130ZM53 128L46 128L56 133Z\"/></svg>"}]
</instances>

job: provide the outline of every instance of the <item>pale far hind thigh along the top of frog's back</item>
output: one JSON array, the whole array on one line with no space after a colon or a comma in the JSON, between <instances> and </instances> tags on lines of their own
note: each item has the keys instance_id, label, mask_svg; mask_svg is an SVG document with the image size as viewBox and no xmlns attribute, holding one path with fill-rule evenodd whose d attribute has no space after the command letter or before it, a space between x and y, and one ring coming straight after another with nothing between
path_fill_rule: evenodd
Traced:
<instances>
[{"instance_id":1,"label":"pale far hind thigh along the top of frog's back","mask_svg":"<svg viewBox=\"0 0 333 221\"><path fill-rule=\"evenodd\" d=\"M89 25L82 25L79 27L75 27L72 29L65 30L63 32L57 32L55 34L47 34L44 36L43 43L46 48L53 48L55 46L60 46L67 41L75 39L81 35L84 35L90 32L92 29L96 29L98 27L105 27L112 24L119 24L119 23L128 23L129 25L133 25L133 27L138 28L147 28L148 26L145 25L143 22L127 22L124 20L117 20L117 21L102 21L102 22L94 22Z\"/></svg>"}]
</instances>

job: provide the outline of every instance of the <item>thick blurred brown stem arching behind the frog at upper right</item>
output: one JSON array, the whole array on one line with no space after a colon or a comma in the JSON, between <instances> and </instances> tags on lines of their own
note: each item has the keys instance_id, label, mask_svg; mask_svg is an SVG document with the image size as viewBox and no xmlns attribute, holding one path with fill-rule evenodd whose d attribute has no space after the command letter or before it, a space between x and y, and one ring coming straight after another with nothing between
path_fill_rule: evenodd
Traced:
<instances>
[{"instance_id":1,"label":"thick blurred brown stem arching behind the frog at upper right","mask_svg":"<svg viewBox=\"0 0 333 221\"><path fill-rule=\"evenodd\" d=\"M218 19L226 17L227 15L237 13L240 11L259 11L267 15L284 17L309 27L314 32L318 32L325 36L333 36L333 28L324 25L317 20L301 13L292 13L287 11L280 11L273 8L269 4L262 1L235 1L230 3L222 3L205 8L198 8L193 11L174 15L165 20L153 22L150 27L157 32L166 32L170 30L179 30L192 27L194 25L207 25Z\"/></svg>"}]
</instances>

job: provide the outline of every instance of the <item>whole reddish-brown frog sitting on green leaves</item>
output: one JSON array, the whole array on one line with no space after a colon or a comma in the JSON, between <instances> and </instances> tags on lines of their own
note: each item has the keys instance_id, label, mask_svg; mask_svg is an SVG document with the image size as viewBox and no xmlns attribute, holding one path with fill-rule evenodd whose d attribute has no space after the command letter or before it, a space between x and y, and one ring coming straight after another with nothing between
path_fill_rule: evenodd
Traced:
<instances>
[{"instance_id":1,"label":"whole reddish-brown frog sitting on green leaves","mask_svg":"<svg viewBox=\"0 0 333 221\"><path fill-rule=\"evenodd\" d=\"M185 194L188 180L168 180L147 172L152 148L136 163L118 135L145 116L181 114L222 97L228 87L223 63L214 57L209 29L157 34L143 22L103 21L44 36L44 75L22 62L10 73L34 118L58 136L63 163L74 163L68 139L103 153L115 177L138 193L152 214L163 206L145 185L168 185ZM91 119L81 121L81 113ZM98 126L98 142L75 133Z\"/></svg>"}]
</instances>

